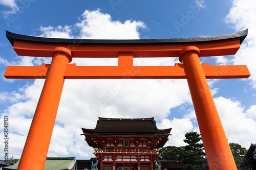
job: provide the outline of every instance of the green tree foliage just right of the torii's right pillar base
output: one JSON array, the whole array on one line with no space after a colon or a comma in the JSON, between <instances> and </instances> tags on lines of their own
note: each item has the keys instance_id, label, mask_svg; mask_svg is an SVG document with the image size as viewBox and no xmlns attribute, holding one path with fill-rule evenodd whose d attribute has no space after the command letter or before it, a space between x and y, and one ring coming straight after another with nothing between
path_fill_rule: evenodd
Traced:
<instances>
[{"instance_id":1,"label":"green tree foliage just right of the torii's right pillar base","mask_svg":"<svg viewBox=\"0 0 256 170\"><path fill-rule=\"evenodd\" d=\"M242 148L242 146L238 143L229 143L229 147L231 149L232 155L234 157L234 162L236 162L237 167L245 166L248 160L245 158L245 154L247 150Z\"/></svg>"}]
</instances>

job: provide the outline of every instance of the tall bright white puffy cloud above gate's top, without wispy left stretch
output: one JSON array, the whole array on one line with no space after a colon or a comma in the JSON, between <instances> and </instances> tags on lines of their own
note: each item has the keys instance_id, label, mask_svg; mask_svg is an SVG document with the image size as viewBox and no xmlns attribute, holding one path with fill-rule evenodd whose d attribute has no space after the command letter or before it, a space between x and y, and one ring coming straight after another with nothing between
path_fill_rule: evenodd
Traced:
<instances>
[{"instance_id":1,"label":"tall bright white puffy cloud above gate's top, without wispy left stretch","mask_svg":"<svg viewBox=\"0 0 256 170\"><path fill-rule=\"evenodd\" d=\"M78 38L92 39L139 39L138 29L146 28L142 21L114 21L109 14L104 14L99 9L84 11L76 27L80 30Z\"/></svg>"}]
</instances>

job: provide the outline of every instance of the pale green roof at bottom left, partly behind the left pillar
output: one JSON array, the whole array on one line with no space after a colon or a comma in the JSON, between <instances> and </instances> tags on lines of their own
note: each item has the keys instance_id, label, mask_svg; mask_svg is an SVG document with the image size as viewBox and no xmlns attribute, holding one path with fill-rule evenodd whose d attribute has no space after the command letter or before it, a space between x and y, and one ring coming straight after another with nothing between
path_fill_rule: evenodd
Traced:
<instances>
[{"instance_id":1,"label":"pale green roof at bottom left, partly behind the left pillar","mask_svg":"<svg viewBox=\"0 0 256 170\"><path fill-rule=\"evenodd\" d=\"M17 169L18 163L14 165L4 167L3 169ZM75 166L76 170L76 160L75 157L47 157L44 170L71 170Z\"/></svg>"}]
</instances>

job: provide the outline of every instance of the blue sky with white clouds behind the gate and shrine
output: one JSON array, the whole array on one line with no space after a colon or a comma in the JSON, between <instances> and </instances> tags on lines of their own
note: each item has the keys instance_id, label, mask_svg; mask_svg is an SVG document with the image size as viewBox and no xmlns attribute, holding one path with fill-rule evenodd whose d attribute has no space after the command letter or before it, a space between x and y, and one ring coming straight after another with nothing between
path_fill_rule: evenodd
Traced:
<instances>
[{"instance_id":1,"label":"blue sky with white clouds behind the gate and shrine","mask_svg":"<svg viewBox=\"0 0 256 170\"><path fill-rule=\"evenodd\" d=\"M154 39L221 35L248 28L236 55L200 58L211 65L248 66L249 79L208 80L228 141L248 149L256 142L255 7L252 0L0 0L0 125L8 115L9 156L22 154L44 80L7 80L6 67L41 65L51 59L17 56L6 30L55 38ZM175 62L179 63L177 58L143 59L146 65ZM117 60L89 58L72 63L116 65ZM102 102L117 83L122 88ZM80 136L80 128L95 128L98 117L155 117L159 129L173 128L167 145L184 145L186 132L200 132L186 80L66 80L48 156L92 157L93 149Z\"/></svg>"}]
</instances>

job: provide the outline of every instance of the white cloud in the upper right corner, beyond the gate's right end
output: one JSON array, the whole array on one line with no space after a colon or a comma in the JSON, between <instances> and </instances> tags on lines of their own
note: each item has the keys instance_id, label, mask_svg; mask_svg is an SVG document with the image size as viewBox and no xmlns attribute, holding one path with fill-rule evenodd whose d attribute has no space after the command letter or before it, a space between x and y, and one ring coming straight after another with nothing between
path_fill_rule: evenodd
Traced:
<instances>
[{"instance_id":1,"label":"white cloud in the upper right corner, beyond the gate's right end","mask_svg":"<svg viewBox=\"0 0 256 170\"><path fill-rule=\"evenodd\" d=\"M249 80L256 88L256 59L254 57L256 53L256 10L252 7L256 6L254 0L236 0L233 1L232 8L229 14L226 16L226 22L228 26L236 31L243 29L249 29L248 36L242 43L240 50L232 59L234 65L246 64L251 73ZM222 61L220 61L222 62Z\"/></svg>"}]
</instances>

